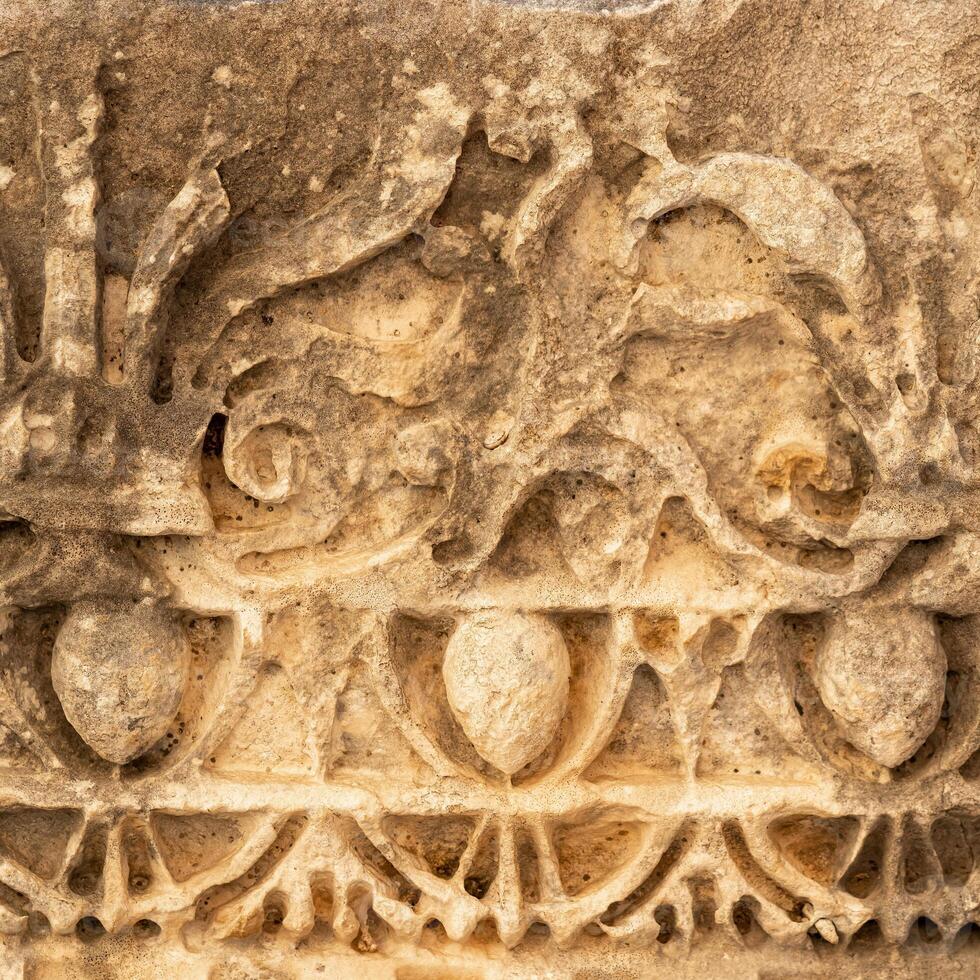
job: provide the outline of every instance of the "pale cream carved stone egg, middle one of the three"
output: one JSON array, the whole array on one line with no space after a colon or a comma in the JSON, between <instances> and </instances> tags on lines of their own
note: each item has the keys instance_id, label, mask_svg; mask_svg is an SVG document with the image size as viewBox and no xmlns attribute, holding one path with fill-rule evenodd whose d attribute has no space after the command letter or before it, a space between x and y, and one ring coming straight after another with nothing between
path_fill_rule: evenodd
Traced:
<instances>
[{"instance_id":1,"label":"pale cream carved stone egg, middle one of the three","mask_svg":"<svg viewBox=\"0 0 980 980\"><path fill-rule=\"evenodd\" d=\"M512 775L555 737L568 707L568 649L543 616L487 611L446 648L449 706L477 752Z\"/></svg>"}]
</instances>

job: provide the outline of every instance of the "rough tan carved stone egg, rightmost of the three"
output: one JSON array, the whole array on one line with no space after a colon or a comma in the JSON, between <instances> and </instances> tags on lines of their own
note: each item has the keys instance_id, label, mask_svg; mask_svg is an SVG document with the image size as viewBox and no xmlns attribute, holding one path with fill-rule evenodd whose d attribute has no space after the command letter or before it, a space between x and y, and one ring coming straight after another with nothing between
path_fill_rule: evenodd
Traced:
<instances>
[{"instance_id":1,"label":"rough tan carved stone egg, rightmost of the three","mask_svg":"<svg viewBox=\"0 0 980 980\"><path fill-rule=\"evenodd\" d=\"M841 612L814 674L847 740L892 767L913 755L939 720L946 654L932 616L921 610Z\"/></svg>"}]
</instances>

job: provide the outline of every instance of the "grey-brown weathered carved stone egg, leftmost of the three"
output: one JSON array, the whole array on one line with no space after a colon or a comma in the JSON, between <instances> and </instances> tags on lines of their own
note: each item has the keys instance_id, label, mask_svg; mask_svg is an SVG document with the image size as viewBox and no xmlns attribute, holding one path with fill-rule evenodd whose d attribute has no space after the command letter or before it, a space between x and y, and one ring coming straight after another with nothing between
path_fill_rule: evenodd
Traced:
<instances>
[{"instance_id":1,"label":"grey-brown weathered carved stone egg, leftmost of the three","mask_svg":"<svg viewBox=\"0 0 980 980\"><path fill-rule=\"evenodd\" d=\"M55 640L51 682L75 731L104 759L122 764L166 732L189 664L190 645L170 610L80 602Z\"/></svg>"}]
</instances>

